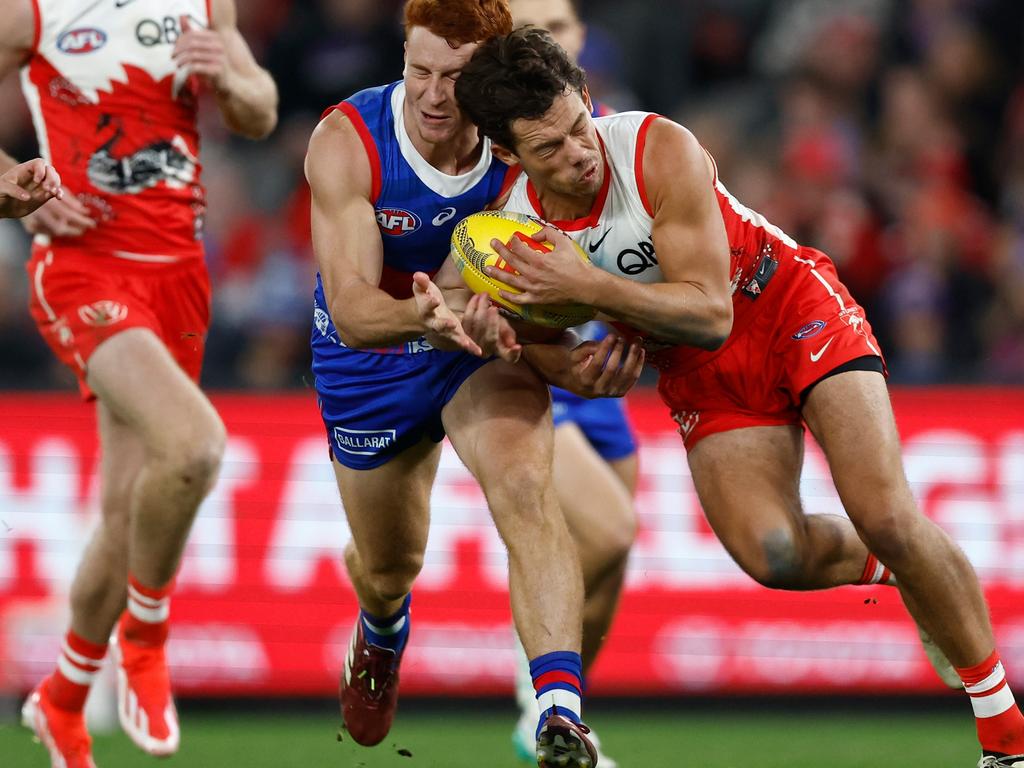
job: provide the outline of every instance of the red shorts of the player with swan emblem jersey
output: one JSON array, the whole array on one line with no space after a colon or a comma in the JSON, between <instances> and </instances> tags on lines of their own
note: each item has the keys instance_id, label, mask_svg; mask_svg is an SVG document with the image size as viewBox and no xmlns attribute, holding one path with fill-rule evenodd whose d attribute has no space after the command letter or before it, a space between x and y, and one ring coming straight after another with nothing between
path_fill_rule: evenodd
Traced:
<instances>
[{"instance_id":1,"label":"red shorts of the player with swan emblem jersey","mask_svg":"<svg viewBox=\"0 0 1024 768\"><path fill-rule=\"evenodd\" d=\"M141 262L102 252L34 246L27 265L29 310L61 362L78 377L104 340L147 328L181 369L199 381L210 325L210 279L203 259Z\"/></svg>"}]
</instances>

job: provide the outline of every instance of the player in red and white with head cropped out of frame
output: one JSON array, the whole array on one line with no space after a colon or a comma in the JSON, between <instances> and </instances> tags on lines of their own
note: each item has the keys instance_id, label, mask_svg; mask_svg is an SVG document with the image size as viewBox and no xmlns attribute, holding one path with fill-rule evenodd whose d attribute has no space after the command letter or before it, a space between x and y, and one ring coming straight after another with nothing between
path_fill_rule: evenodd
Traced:
<instances>
[{"instance_id":1,"label":"player in red and white with head cropped out of frame","mask_svg":"<svg viewBox=\"0 0 1024 768\"><path fill-rule=\"evenodd\" d=\"M14 0L0 71L22 70L43 157L65 195L36 234L31 311L96 400L101 521L71 590L56 669L26 701L53 766L90 768L82 709L114 632L119 716L153 755L178 748L164 655L170 594L224 428L197 386L210 289L201 242L197 97L264 136L276 89L236 28L233 0ZM15 166L0 153L0 170Z\"/></svg>"}]
</instances>

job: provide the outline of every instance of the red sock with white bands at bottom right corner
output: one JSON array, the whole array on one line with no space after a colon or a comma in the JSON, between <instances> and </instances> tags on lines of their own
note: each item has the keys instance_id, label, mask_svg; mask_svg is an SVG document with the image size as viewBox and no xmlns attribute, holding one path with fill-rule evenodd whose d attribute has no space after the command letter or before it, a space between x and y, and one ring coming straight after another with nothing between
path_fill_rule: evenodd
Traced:
<instances>
[{"instance_id":1,"label":"red sock with white bands at bottom right corner","mask_svg":"<svg viewBox=\"0 0 1024 768\"><path fill-rule=\"evenodd\" d=\"M979 665L956 669L971 696L978 726L978 740L985 752L1024 754L1024 716L1007 683L999 652Z\"/></svg>"}]
</instances>

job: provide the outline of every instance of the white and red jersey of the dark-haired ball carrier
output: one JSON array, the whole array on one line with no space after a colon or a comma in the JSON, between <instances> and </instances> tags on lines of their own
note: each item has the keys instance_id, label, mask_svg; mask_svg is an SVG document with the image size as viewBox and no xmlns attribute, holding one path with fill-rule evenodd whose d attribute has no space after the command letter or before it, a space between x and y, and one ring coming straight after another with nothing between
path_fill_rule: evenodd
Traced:
<instances>
[{"instance_id":1,"label":"white and red jersey of the dark-haired ball carrier","mask_svg":"<svg viewBox=\"0 0 1024 768\"><path fill-rule=\"evenodd\" d=\"M665 282L654 249L654 216L643 176L647 131L657 118L650 113L625 112L596 119L605 173L594 207L584 218L551 222L579 243L595 265L639 283ZM775 272L793 262L799 246L733 198L717 172L713 183L729 239L735 333L749 322L758 297ZM537 190L525 174L516 179L503 208L546 218Z\"/></svg>"}]
</instances>

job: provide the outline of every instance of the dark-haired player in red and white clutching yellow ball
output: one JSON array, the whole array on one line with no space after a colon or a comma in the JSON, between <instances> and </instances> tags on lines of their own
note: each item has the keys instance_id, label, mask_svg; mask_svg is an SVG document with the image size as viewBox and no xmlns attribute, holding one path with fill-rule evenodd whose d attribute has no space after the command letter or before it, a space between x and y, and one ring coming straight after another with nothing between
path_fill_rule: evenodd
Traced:
<instances>
[{"instance_id":1,"label":"dark-haired player in red and white clutching yellow ball","mask_svg":"<svg viewBox=\"0 0 1024 768\"><path fill-rule=\"evenodd\" d=\"M700 503L762 584L896 583L971 696L979 766L1024 766L1024 718L1007 686L977 577L916 508L885 367L831 261L733 198L683 127L655 115L593 120L584 74L537 30L492 40L459 103L524 173L506 207L552 221L539 255L496 243L520 276L511 301L577 301L651 339L658 391L680 425ZM542 348L526 347L543 366ZM803 514L806 424L849 515Z\"/></svg>"}]
</instances>

